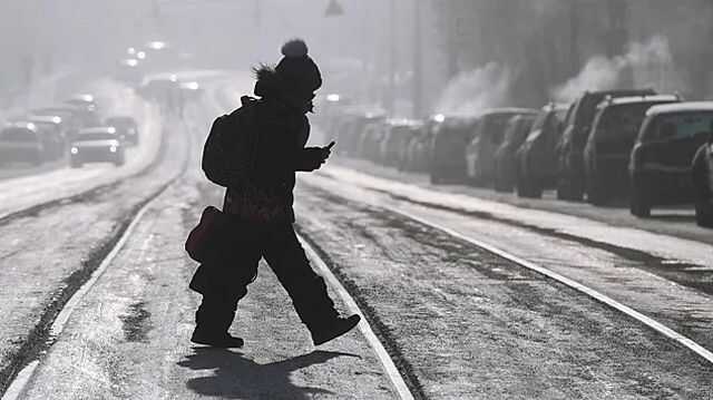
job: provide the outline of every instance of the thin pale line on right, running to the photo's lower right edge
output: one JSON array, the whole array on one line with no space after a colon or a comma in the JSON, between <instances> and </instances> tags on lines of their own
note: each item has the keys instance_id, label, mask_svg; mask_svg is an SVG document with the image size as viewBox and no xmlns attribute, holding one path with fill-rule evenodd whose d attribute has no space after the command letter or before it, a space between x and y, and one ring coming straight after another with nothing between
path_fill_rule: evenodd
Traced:
<instances>
[{"instance_id":1,"label":"thin pale line on right, running to the photo's lower right edge","mask_svg":"<svg viewBox=\"0 0 713 400\"><path fill-rule=\"evenodd\" d=\"M531 262L529 262L527 260L520 258L517 255L510 254L510 253L508 253L508 252L506 252L504 250L500 250L498 247L495 247L495 246L492 246L492 245L490 245L488 243L485 243L485 242L475 240L472 237L466 236L465 234L461 234L460 232L457 232L457 231L451 230L449 227L432 223L432 222L427 221L427 219L424 219L424 218L422 218L420 216L416 216L416 215L413 215L413 214L411 214L409 212L404 212L402 209L398 209L398 208L394 208L392 206L384 206L384 208L387 208L387 209L389 209L389 211L391 211L393 213L400 214L402 216L406 216L408 218L411 218L411 219L413 219L416 222L419 222L419 223L421 223L423 225L431 226L433 228L442 231L442 232L445 232L445 233L447 233L447 234L449 234L451 236L458 237L458 238L460 238L462 241L466 241L466 242L468 242L470 244L473 244L473 245L476 245L478 247L485 248L490 253L499 255L499 256L501 256L501 257L504 257L506 260L509 260L509 261L511 261L511 262L514 262L516 264L525 266L528 270L535 271L535 272L539 273L540 275L545 275L545 276L547 276L549 279L553 279L553 280L555 280L555 281L557 281L559 283L563 283L563 284L565 284L565 285L578 291L578 292L582 292L582 293L595 299L596 301L611 306L612 309L615 309L615 310L617 310L619 312L625 313L626 315L637 320L638 322L641 322L641 323L645 324L646 326L655 330L656 332L658 332L658 333L661 333L661 334L663 334L663 335L665 335L665 336L667 336L667 338L681 343L682 345L684 345L688 350L695 352L696 354L699 354L700 357L705 359L707 362L713 364L713 352L711 352L710 350L705 349L704 347L702 347L701 344L696 343L692 339L690 339L690 338L687 338L687 336L685 336L685 335L672 330L671 328L662 324L661 322L658 322L656 320L653 320L652 318L646 316L646 315L642 314L641 312L638 312L638 311L636 311L636 310L634 310L634 309L632 309L632 308L629 308L627 305L624 305L624 304L617 302L616 300L614 300L612 297L608 297L607 295L605 295L605 294L603 294L600 292L597 292L596 290L594 290L592 287L585 286L584 284L582 284L582 283L579 283L577 281L570 280L569 277L560 275L560 274L558 274L558 273L556 273L554 271L547 270L546 267L543 267L540 265L531 263Z\"/></svg>"}]
</instances>

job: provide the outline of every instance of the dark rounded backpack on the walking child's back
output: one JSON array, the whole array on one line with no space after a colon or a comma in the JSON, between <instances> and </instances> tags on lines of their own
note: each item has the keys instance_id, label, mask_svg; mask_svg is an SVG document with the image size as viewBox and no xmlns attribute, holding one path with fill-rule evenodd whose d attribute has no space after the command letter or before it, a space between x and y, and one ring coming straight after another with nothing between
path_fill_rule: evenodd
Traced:
<instances>
[{"instance_id":1,"label":"dark rounded backpack on the walking child's back","mask_svg":"<svg viewBox=\"0 0 713 400\"><path fill-rule=\"evenodd\" d=\"M205 176L223 187L240 186L255 168L258 100L243 96L235 111L217 117L203 146L201 167Z\"/></svg>"}]
</instances>

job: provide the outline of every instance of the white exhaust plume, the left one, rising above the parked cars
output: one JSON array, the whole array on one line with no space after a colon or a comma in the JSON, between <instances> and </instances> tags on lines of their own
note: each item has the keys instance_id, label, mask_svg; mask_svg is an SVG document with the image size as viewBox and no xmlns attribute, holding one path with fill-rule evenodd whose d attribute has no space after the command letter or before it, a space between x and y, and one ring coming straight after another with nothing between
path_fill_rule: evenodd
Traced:
<instances>
[{"instance_id":1,"label":"white exhaust plume, the left one, rising above the parked cars","mask_svg":"<svg viewBox=\"0 0 713 400\"><path fill-rule=\"evenodd\" d=\"M510 70L497 62L461 72L448 82L436 110L475 116L487 108L507 105L511 81Z\"/></svg>"}]
</instances>

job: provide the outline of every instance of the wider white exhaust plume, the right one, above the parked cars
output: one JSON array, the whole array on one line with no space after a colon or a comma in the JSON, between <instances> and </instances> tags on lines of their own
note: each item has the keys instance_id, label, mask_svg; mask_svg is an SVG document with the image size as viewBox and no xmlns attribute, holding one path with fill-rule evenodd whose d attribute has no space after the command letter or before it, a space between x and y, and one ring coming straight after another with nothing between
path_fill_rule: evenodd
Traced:
<instances>
[{"instance_id":1,"label":"wider white exhaust plume, the right one, above the parked cars","mask_svg":"<svg viewBox=\"0 0 713 400\"><path fill-rule=\"evenodd\" d=\"M623 77L631 72L634 85L672 91L681 87L673 66L668 39L655 36L645 43L634 42L625 55L607 58L595 56L582 71L567 82L556 87L551 95L558 101L573 101L585 90L619 88Z\"/></svg>"}]
</instances>

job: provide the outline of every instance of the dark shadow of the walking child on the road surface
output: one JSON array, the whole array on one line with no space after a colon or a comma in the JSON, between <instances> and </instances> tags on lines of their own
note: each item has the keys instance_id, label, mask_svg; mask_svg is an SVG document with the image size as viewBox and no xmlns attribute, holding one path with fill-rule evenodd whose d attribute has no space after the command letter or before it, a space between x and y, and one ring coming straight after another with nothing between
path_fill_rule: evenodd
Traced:
<instances>
[{"instance_id":1,"label":"dark shadow of the walking child on the road surface","mask_svg":"<svg viewBox=\"0 0 713 400\"><path fill-rule=\"evenodd\" d=\"M299 387L290 374L338 357L356 354L332 351L313 351L280 362L258 364L240 352L225 349L193 348L177 364L191 370L214 370L209 377L194 378L186 387L198 394L226 399L311 399L311 394L335 394L313 387Z\"/></svg>"}]
</instances>

